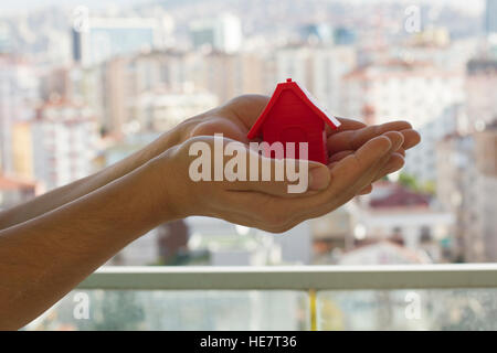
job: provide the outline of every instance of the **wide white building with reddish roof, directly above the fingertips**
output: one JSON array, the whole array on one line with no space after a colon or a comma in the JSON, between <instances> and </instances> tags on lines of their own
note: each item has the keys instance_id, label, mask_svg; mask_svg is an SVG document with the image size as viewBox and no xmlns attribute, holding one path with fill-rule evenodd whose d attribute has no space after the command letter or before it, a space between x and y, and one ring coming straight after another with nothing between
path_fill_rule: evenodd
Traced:
<instances>
[{"instance_id":1,"label":"wide white building with reddish roof, directly above the fingertips","mask_svg":"<svg viewBox=\"0 0 497 353\"><path fill-rule=\"evenodd\" d=\"M430 63L390 61L360 67L343 77L347 116L371 122L405 117L415 128L463 101L463 72L447 72Z\"/></svg>"}]
</instances>

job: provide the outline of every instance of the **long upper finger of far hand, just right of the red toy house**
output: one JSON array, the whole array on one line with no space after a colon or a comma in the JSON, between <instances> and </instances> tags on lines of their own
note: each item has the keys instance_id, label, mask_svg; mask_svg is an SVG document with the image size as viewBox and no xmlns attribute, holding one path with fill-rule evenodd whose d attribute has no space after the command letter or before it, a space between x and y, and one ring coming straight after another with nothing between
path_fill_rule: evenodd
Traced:
<instances>
[{"instance_id":1,"label":"long upper finger of far hand, just right of the red toy house","mask_svg":"<svg viewBox=\"0 0 497 353\"><path fill-rule=\"evenodd\" d=\"M357 150L370 139L388 131L402 131L412 129L408 121L392 121L382 125L369 126L359 130L342 131L331 135L327 139L330 154L343 150Z\"/></svg>"}]
</instances>

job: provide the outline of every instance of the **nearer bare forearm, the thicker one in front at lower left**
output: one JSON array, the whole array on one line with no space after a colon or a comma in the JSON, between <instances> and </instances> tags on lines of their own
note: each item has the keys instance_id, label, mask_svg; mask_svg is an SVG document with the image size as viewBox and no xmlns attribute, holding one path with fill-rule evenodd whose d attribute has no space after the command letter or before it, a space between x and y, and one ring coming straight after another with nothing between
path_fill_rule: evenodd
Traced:
<instances>
[{"instance_id":1,"label":"nearer bare forearm, the thicker one in front at lower left","mask_svg":"<svg viewBox=\"0 0 497 353\"><path fill-rule=\"evenodd\" d=\"M0 232L0 329L27 324L128 243L175 217L157 164Z\"/></svg>"}]
</instances>

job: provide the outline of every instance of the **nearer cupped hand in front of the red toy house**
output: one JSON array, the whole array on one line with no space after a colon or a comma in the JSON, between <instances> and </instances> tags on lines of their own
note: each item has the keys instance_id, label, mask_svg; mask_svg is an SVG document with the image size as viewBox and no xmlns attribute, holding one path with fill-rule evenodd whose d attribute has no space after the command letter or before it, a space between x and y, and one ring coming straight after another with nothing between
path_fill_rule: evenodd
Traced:
<instances>
[{"instance_id":1,"label":"nearer cupped hand in front of the red toy house","mask_svg":"<svg viewBox=\"0 0 497 353\"><path fill-rule=\"evenodd\" d=\"M273 233L285 232L305 220L329 213L351 200L378 178L392 154L404 143L402 133L388 131L369 139L355 152L329 167L309 162L308 188L303 193L290 194L288 185L295 182L287 179L230 181L224 175L221 181L193 180L191 165L198 158L195 153L191 153L193 143L203 143L213 151L215 139L219 137L190 138L157 159L159 169L168 174L163 190L171 204L171 214L175 217L212 216ZM224 138L223 143L228 142L235 143L236 153L246 159L251 153L255 153L258 165L269 163L273 171L281 167L281 163L295 162L267 159L250 150L243 142ZM214 156L211 154L210 158L213 175ZM225 162L226 157L223 159L224 164ZM251 165L253 164L247 163L246 175L251 173ZM258 172L261 170L258 168Z\"/></svg>"}]
</instances>

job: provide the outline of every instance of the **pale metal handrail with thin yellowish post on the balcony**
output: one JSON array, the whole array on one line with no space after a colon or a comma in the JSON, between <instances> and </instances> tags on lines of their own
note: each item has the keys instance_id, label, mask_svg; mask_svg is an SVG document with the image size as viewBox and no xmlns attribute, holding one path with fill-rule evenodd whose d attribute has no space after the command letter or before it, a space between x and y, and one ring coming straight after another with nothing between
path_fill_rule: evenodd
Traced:
<instances>
[{"instance_id":1,"label":"pale metal handrail with thin yellowish post on the balcony","mask_svg":"<svg viewBox=\"0 0 497 353\"><path fill-rule=\"evenodd\" d=\"M303 290L317 329L320 290L497 288L497 264L400 266L102 267L78 289Z\"/></svg>"}]
</instances>

